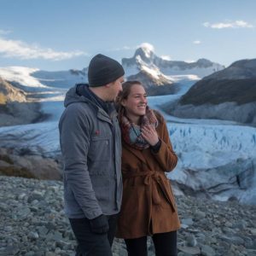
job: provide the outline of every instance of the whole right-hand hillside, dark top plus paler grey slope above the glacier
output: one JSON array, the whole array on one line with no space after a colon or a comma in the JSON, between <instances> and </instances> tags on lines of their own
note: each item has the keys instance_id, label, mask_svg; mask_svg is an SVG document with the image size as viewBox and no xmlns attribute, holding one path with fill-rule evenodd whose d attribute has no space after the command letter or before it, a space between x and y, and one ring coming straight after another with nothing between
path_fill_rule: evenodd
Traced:
<instances>
[{"instance_id":1,"label":"whole right-hand hillside, dark top plus paler grey slope above the glacier","mask_svg":"<svg viewBox=\"0 0 256 256\"><path fill-rule=\"evenodd\" d=\"M256 125L256 59L236 61L196 82L167 113L180 118L224 119Z\"/></svg>"}]
</instances>

